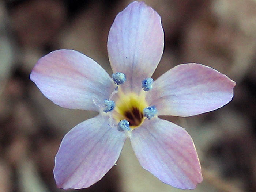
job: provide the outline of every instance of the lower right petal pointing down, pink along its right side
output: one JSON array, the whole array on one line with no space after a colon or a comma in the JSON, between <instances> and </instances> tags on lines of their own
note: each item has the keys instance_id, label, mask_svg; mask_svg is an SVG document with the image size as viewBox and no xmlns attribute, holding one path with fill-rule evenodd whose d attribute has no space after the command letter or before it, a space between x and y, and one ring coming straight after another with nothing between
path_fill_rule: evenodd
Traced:
<instances>
[{"instance_id":1,"label":"lower right petal pointing down, pink along its right side","mask_svg":"<svg viewBox=\"0 0 256 192\"><path fill-rule=\"evenodd\" d=\"M202 182L195 145L184 128L153 118L133 130L130 139L140 165L162 182L180 189Z\"/></svg>"}]
</instances>

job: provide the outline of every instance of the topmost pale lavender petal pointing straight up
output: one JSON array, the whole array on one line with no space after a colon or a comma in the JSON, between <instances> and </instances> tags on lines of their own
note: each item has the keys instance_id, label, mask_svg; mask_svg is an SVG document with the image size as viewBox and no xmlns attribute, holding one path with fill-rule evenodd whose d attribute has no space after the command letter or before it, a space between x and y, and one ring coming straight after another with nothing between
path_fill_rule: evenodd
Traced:
<instances>
[{"instance_id":1,"label":"topmost pale lavender petal pointing straight up","mask_svg":"<svg viewBox=\"0 0 256 192\"><path fill-rule=\"evenodd\" d=\"M133 2L120 12L108 36L108 54L113 73L122 72L125 91L139 93L144 78L151 77L163 54L161 18L142 2Z\"/></svg>"}]
</instances>

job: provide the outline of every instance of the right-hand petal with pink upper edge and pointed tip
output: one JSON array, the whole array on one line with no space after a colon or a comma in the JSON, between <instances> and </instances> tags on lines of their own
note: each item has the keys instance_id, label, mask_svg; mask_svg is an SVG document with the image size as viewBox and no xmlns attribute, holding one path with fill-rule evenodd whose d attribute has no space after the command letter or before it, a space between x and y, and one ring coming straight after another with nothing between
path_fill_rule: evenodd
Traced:
<instances>
[{"instance_id":1,"label":"right-hand petal with pink upper edge and pointed tip","mask_svg":"<svg viewBox=\"0 0 256 192\"><path fill-rule=\"evenodd\" d=\"M158 115L192 116L226 105L233 98L234 81L202 64L181 64L153 82L148 102Z\"/></svg>"}]
</instances>

